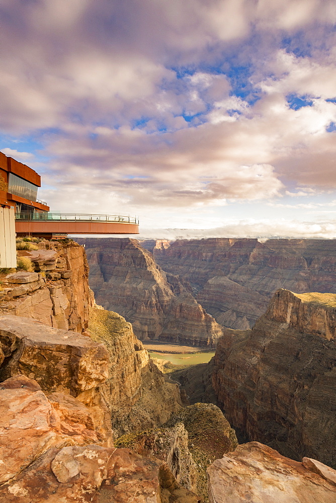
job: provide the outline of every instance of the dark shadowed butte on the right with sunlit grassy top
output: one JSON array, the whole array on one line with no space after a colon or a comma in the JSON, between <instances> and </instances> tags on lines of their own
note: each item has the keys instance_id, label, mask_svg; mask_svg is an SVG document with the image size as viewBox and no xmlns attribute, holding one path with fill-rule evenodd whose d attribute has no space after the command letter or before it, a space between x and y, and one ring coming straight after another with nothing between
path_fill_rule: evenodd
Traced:
<instances>
[{"instance_id":1,"label":"dark shadowed butte on the right with sunlit grassy top","mask_svg":"<svg viewBox=\"0 0 336 503\"><path fill-rule=\"evenodd\" d=\"M336 466L336 295L278 290L251 330L225 329L213 386L251 440Z\"/></svg>"}]
</instances>

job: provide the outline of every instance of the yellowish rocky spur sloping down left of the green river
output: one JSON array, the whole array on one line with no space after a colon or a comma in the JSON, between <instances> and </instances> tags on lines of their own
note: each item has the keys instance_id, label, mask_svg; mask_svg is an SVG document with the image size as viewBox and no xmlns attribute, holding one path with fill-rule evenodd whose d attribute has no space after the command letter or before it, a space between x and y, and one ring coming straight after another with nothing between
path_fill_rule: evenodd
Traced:
<instances>
[{"instance_id":1,"label":"yellowish rocky spur sloping down left of the green river","mask_svg":"<svg viewBox=\"0 0 336 503\"><path fill-rule=\"evenodd\" d=\"M166 382L149 360L131 323L117 313L92 309L89 331L109 352L109 376L100 391L109 404L115 435L157 427L181 408L178 385ZM85 396L80 399L85 401ZM87 397L89 404L90 392Z\"/></svg>"}]
</instances>

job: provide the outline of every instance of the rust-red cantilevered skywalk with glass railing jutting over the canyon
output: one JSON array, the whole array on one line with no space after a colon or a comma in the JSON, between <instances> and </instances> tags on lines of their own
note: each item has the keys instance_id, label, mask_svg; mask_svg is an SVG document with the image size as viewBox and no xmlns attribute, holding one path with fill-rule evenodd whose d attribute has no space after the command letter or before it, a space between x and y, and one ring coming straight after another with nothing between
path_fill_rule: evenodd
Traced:
<instances>
[{"instance_id":1,"label":"rust-red cantilevered skywalk with glass railing jutting over the canyon","mask_svg":"<svg viewBox=\"0 0 336 503\"><path fill-rule=\"evenodd\" d=\"M139 220L122 215L17 213L18 236L65 237L66 234L138 234Z\"/></svg>"}]
</instances>

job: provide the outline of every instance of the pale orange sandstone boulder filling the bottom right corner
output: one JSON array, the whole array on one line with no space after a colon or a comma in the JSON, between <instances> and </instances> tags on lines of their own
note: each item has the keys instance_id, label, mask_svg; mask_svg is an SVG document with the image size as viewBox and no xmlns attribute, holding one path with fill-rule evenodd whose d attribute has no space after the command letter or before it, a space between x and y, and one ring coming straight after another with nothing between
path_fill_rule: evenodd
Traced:
<instances>
[{"instance_id":1,"label":"pale orange sandstone boulder filling the bottom right corner","mask_svg":"<svg viewBox=\"0 0 336 503\"><path fill-rule=\"evenodd\" d=\"M336 472L331 471L335 476ZM217 459L208 468L208 488L210 503L333 503L336 500L333 483L259 442L240 445L234 453Z\"/></svg>"}]
</instances>

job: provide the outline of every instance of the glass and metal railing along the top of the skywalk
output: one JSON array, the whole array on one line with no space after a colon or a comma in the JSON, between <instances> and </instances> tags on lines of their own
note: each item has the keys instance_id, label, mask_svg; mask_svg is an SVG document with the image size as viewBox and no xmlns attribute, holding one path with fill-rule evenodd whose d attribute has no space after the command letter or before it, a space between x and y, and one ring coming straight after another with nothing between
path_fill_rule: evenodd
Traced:
<instances>
[{"instance_id":1,"label":"glass and metal railing along the top of the skywalk","mask_svg":"<svg viewBox=\"0 0 336 503\"><path fill-rule=\"evenodd\" d=\"M71 222L121 222L121 223L139 223L137 217L121 215L90 215L84 213L30 213L21 212L15 214L16 220L39 220L39 221L71 221Z\"/></svg>"}]
</instances>

